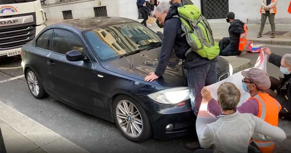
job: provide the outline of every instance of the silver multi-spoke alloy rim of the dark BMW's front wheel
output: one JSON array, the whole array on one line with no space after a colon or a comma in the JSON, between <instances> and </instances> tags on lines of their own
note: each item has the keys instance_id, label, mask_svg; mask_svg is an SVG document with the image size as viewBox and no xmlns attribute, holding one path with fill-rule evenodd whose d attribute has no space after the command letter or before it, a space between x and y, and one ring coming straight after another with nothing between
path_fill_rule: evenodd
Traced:
<instances>
[{"instance_id":1,"label":"silver multi-spoke alloy rim of the dark BMW's front wheel","mask_svg":"<svg viewBox=\"0 0 291 153\"><path fill-rule=\"evenodd\" d=\"M142 134L143 124L139 110L128 100L119 101L116 107L117 122L122 131L137 138Z\"/></svg>"}]
</instances>

